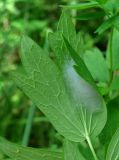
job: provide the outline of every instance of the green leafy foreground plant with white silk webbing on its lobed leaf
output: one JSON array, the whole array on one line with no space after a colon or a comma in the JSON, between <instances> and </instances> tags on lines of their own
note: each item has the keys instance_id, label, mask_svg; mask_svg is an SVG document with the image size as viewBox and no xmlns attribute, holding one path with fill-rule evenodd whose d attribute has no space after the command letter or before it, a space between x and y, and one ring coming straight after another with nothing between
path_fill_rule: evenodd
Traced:
<instances>
[{"instance_id":1,"label":"green leafy foreground plant with white silk webbing on its lobed leaf","mask_svg":"<svg viewBox=\"0 0 119 160\"><path fill-rule=\"evenodd\" d=\"M119 95L119 1L90 0L63 6L57 31L49 33L53 58L32 39L23 36L23 69L11 73L14 82L49 119L62 136L62 151L22 147L0 138L0 150L17 160L118 160L119 129L107 147L106 104ZM82 53L69 10L99 8L79 20L104 17L95 34L111 30L106 56L94 47ZM115 125L115 124L113 124ZM106 147L105 147L106 146Z\"/></svg>"}]
</instances>

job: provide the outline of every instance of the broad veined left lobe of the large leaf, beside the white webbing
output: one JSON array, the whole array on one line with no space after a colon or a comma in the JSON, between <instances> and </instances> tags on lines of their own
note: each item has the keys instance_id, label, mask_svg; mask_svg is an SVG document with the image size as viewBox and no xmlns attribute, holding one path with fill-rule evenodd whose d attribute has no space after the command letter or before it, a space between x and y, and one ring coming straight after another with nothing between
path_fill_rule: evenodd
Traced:
<instances>
[{"instance_id":1,"label":"broad veined left lobe of the large leaf, beside the white webbing","mask_svg":"<svg viewBox=\"0 0 119 160\"><path fill-rule=\"evenodd\" d=\"M59 69L28 37L23 37L21 46L22 62L28 75L13 73L14 81L46 114L60 134L77 141L82 139L77 134L80 133L78 119L74 118L72 123L76 111L71 111L72 105Z\"/></svg>"}]
</instances>

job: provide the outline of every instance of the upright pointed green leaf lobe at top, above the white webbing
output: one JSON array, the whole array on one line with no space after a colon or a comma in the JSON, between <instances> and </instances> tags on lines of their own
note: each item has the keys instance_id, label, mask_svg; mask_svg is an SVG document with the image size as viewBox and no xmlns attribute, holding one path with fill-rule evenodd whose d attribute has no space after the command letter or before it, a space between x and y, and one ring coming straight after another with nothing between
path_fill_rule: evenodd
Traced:
<instances>
[{"instance_id":1,"label":"upright pointed green leaf lobe at top, above the white webbing","mask_svg":"<svg viewBox=\"0 0 119 160\"><path fill-rule=\"evenodd\" d=\"M66 36L73 47L79 51L80 38L76 35L71 16L67 11L62 12L58 23L57 32L49 34L49 43L54 51L56 62L60 68L62 68L67 61L71 60L69 52L65 47L62 34Z\"/></svg>"}]
</instances>

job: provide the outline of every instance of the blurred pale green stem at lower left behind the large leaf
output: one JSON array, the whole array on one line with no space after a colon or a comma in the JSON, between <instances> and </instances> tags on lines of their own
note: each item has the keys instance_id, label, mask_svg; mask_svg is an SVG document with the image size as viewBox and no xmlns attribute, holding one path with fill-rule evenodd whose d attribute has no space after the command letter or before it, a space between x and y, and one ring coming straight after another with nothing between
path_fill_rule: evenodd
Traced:
<instances>
[{"instance_id":1,"label":"blurred pale green stem at lower left behind the large leaf","mask_svg":"<svg viewBox=\"0 0 119 160\"><path fill-rule=\"evenodd\" d=\"M27 122L26 122L25 130L24 130L23 139L22 139L23 146L27 146L29 142L35 108L36 108L35 105L31 105L31 107L29 108Z\"/></svg>"}]
</instances>

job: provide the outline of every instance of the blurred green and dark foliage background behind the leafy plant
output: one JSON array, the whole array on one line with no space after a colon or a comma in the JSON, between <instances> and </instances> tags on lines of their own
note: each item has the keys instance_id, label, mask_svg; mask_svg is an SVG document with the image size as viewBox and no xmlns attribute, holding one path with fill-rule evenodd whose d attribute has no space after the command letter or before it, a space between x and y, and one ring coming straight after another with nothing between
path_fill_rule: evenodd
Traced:
<instances>
[{"instance_id":1,"label":"blurred green and dark foliage background behind the leafy plant","mask_svg":"<svg viewBox=\"0 0 119 160\"><path fill-rule=\"evenodd\" d=\"M0 135L22 144L24 129L32 105L31 101L11 80L10 71L21 64L20 37L29 35L50 51L48 32L56 30L62 8L60 5L78 3L77 0L0 0ZM79 13L71 10L72 18ZM77 31L83 35L86 48L93 45L105 51L108 33L94 34L101 20L78 21ZM103 36L103 37L102 37ZM98 38L97 38L98 37ZM60 137L44 115L35 109L29 146L61 146Z\"/></svg>"}]
</instances>

